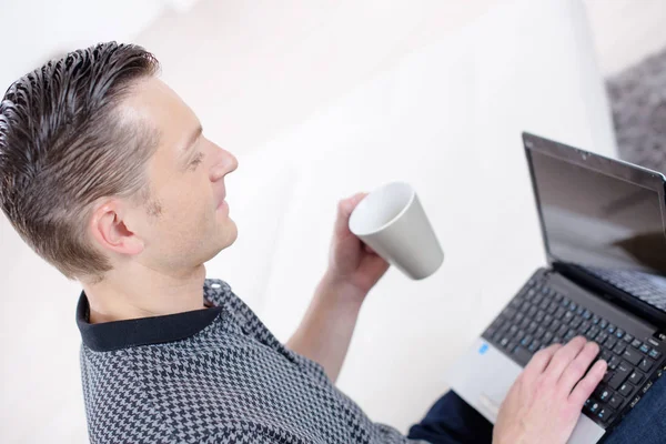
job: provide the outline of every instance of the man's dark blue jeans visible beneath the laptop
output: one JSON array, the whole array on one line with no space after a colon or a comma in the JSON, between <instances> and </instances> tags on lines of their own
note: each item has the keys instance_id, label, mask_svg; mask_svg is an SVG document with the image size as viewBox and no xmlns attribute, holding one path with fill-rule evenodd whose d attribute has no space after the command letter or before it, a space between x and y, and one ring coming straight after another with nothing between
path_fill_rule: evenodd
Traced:
<instances>
[{"instance_id":1,"label":"man's dark blue jeans visible beneath the laptop","mask_svg":"<svg viewBox=\"0 0 666 444\"><path fill-rule=\"evenodd\" d=\"M407 437L432 444L490 444L493 424L454 392L442 396L425 417L410 428ZM666 443L666 375L636 404L603 444Z\"/></svg>"}]
</instances>

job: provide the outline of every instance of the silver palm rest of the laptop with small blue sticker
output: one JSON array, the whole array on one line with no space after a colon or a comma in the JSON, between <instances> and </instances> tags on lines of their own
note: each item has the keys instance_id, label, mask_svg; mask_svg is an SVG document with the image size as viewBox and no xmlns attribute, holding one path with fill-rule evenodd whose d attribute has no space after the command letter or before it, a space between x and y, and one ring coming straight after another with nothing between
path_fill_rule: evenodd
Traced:
<instances>
[{"instance_id":1,"label":"silver palm rest of the laptop with small blue sticker","mask_svg":"<svg viewBox=\"0 0 666 444\"><path fill-rule=\"evenodd\" d=\"M493 424L502 401L523 367L483 339L465 352L445 375L451 389ZM605 431L581 414L567 444L594 444Z\"/></svg>"}]
</instances>

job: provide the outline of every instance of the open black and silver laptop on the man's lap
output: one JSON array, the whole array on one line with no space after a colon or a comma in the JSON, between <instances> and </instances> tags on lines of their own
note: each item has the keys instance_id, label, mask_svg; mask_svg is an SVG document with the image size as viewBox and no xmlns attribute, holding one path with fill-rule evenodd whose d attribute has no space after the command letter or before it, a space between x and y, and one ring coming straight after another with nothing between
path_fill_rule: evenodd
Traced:
<instances>
[{"instance_id":1,"label":"open black and silver laptop on the man's lap","mask_svg":"<svg viewBox=\"0 0 666 444\"><path fill-rule=\"evenodd\" d=\"M495 423L538 350L584 335L599 344L608 372L568 443L596 443L666 370L666 181L658 172L534 134L523 133L523 144L547 264L446 379Z\"/></svg>"}]
</instances>

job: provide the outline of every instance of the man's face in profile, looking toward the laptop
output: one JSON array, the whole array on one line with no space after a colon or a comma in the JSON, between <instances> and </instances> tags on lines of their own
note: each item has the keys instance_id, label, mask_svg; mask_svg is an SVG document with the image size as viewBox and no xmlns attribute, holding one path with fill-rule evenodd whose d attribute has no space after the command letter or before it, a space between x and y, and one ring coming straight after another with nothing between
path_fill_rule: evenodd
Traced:
<instances>
[{"instance_id":1,"label":"man's face in profile, looking toward the laptop","mask_svg":"<svg viewBox=\"0 0 666 444\"><path fill-rule=\"evenodd\" d=\"M133 211L132 225L144 246L135 260L164 273L196 266L236 239L224 175L238 161L205 139L196 115L159 79L142 81L125 104L159 133L148 179L160 212Z\"/></svg>"}]
</instances>

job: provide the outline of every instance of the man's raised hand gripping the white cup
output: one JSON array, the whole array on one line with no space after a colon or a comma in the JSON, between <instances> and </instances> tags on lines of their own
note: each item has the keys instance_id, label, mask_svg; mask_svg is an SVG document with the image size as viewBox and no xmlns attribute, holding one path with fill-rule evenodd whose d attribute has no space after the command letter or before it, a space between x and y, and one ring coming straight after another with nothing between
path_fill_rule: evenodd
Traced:
<instances>
[{"instance_id":1,"label":"man's raised hand gripping the white cup","mask_svg":"<svg viewBox=\"0 0 666 444\"><path fill-rule=\"evenodd\" d=\"M389 263L350 231L352 211L367 193L357 193L337 204L337 219L331 241L327 278L357 290L361 297L389 270Z\"/></svg>"}]
</instances>

